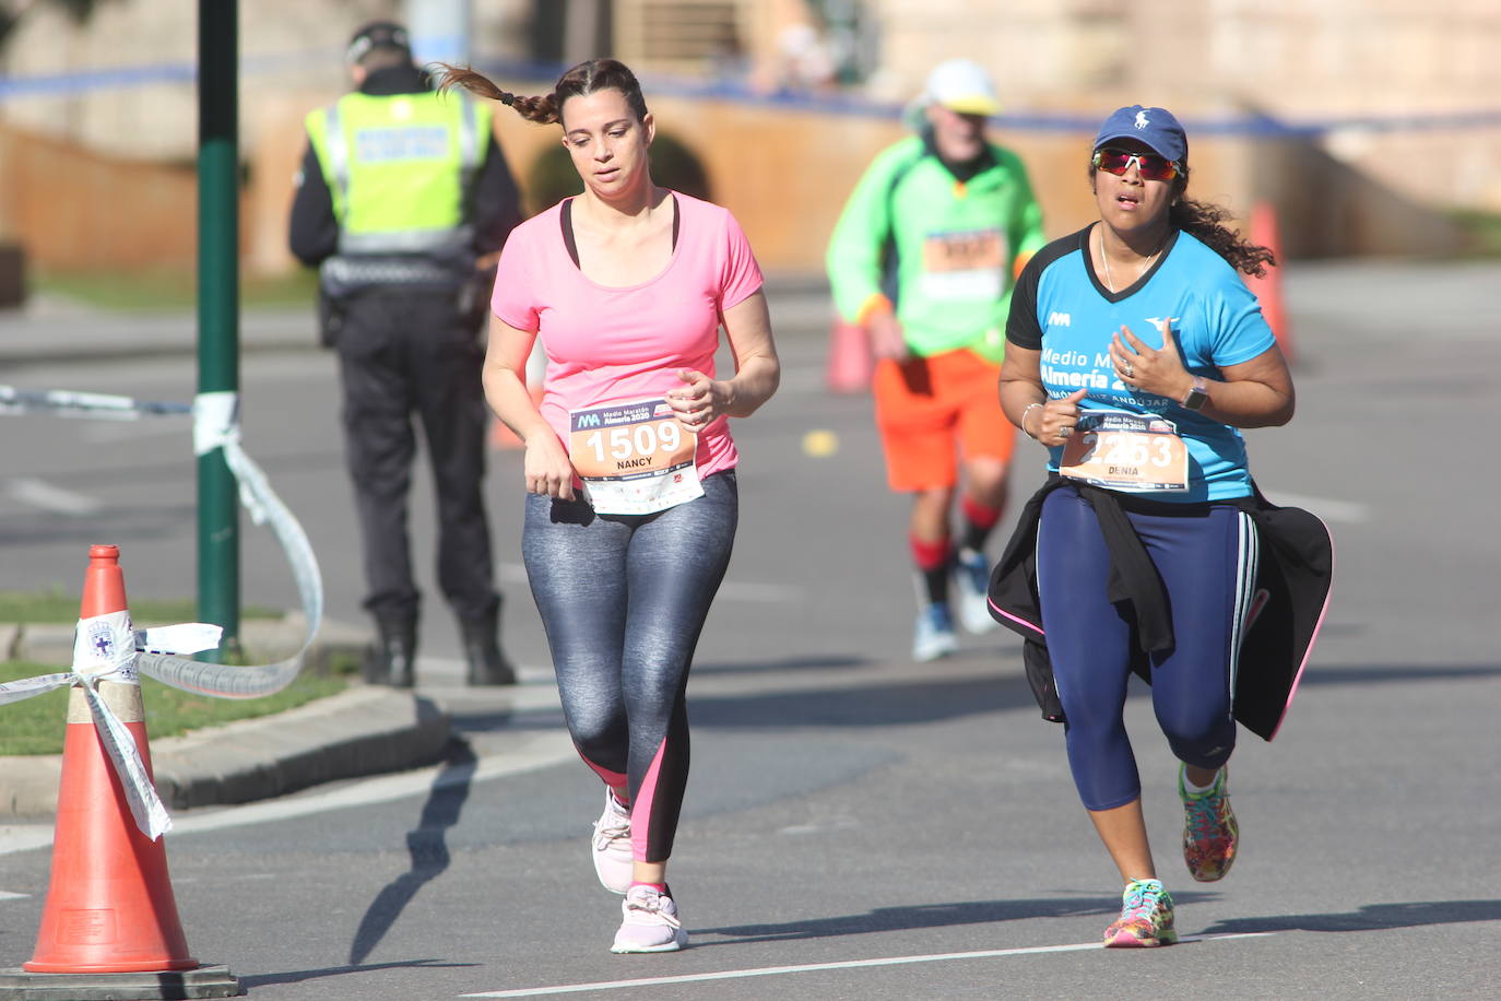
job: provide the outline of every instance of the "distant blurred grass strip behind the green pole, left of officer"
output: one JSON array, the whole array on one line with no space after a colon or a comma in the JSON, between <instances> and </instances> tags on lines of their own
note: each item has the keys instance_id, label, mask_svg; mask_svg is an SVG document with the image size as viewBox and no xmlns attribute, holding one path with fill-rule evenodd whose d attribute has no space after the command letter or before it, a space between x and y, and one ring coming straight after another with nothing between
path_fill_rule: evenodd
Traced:
<instances>
[{"instance_id":1,"label":"distant blurred grass strip behind the green pole, left of officer","mask_svg":"<svg viewBox=\"0 0 1501 1001\"><path fill-rule=\"evenodd\" d=\"M110 312L180 312L198 303L198 275L189 269L131 272L38 272L27 276L33 291L72 299ZM297 269L290 275L240 276L240 305L308 306L318 290L318 273Z\"/></svg>"}]
</instances>

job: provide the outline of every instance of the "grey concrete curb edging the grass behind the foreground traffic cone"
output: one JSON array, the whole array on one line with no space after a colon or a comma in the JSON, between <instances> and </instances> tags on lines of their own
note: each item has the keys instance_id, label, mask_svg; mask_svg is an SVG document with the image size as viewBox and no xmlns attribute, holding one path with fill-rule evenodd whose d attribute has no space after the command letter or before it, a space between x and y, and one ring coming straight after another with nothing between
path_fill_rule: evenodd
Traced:
<instances>
[{"instance_id":1,"label":"grey concrete curb edging the grass behind the foreground traffic cone","mask_svg":"<svg viewBox=\"0 0 1501 1001\"><path fill-rule=\"evenodd\" d=\"M356 686L275 716L150 746L167 806L249 803L335 779L399 771L443 756L449 714L414 692ZM57 812L62 755L0 758L0 816Z\"/></svg>"}]
</instances>

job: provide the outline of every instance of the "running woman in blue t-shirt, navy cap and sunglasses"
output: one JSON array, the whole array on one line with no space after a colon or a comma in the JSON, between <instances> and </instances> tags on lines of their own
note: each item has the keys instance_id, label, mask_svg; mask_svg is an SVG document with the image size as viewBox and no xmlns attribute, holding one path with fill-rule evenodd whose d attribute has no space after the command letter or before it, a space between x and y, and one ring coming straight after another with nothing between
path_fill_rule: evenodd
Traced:
<instances>
[{"instance_id":1,"label":"running woman in blue t-shirt, navy cap and sunglasses","mask_svg":"<svg viewBox=\"0 0 1501 1001\"><path fill-rule=\"evenodd\" d=\"M1258 600L1238 429L1286 423L1294 393L1237 275L1261 275L1273 255L1226 228L1223 209L1184 197L1177 119L1112 113L1090 182L1099 222L1046 246L1018 281L1001 405L1048 447L1054 474L1036 591L1075 785L1126 882L1105 944L1163 945L1177 941L1172 897L1142 821L1127 678L1150 665L1153 708L1181 761L1184 860L1195 879L1219 879L1235 858L1225 762Z\"/></svg>"}]
</instances>

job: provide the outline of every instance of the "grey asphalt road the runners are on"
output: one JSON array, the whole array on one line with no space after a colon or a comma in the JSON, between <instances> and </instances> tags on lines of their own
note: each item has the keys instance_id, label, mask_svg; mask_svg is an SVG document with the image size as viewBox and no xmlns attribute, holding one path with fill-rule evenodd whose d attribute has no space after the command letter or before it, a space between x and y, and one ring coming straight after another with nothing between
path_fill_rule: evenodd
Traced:
<instances>
[{"instance_id":1,"label":"grey asphalt road the runners are on","mask_svg":"<svg viewBox=\"0 0 1501 1001\"><path fill-rule=\"evenodd\" d=\"M456 702L465 744L440 768L179 815L168 851L194 954L276 1001L1493 996L1501 477L1480 417L1501 371L1496 287L1493 266L1289 275L1298 417L1249 438L1262 486L1330 522L1334 602L1282 734L1243 734L1243 848L1225 882L1193 884L1177 861L1174 765L1147 701L1129 705L1184 944L1094 947L1115 875L1010 636L907 660L905 504L883 486L869 401L823 392L818 309L788 300L785 387L735 429L741 530L690 686L671 879L693 945L606 951L617 903L587 860L597 783L561 732L515 557L519 456L500 452L489 497L525 708ZM159 360L8 378L188 399L194 372ZM330 359L248 357L243 395L246 447L318 551L329 614L359 621ZM0 587L77 588L87 545L117 542L132 596L192 593L182 425L8 420ZM839 449L808 455L814 429ZM1039 465L1024 443L1019 495ZM95 506L39 506L63 495ZM426 572L425 485L413 519ZM291 600L269 534L246 525L242 563L246 602ZM435 596L423 635L423 671L456 672ZM0 966L32 954L47 891L48 852L8 848L23 833L0 828Z\"/></svg>"}]
</instances>

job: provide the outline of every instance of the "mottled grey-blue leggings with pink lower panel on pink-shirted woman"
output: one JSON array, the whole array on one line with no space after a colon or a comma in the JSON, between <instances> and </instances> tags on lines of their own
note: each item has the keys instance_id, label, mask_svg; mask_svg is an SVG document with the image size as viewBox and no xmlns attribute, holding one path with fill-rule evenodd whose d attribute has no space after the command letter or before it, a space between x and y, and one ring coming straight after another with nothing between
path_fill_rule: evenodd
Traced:
<instances>
[{"instance_id":1,"label":"mottled grey-blue leggings with pink lower panel on pink-shirted woman","mask_svg":"<svg viewBox=\"0 0 1501 1001\"><path fill-rule=\"evenodd\" d=\"M666 861L687 786L687 668L729 566L734 471L656 515L527 497L521 551L584 762L627 788L638 861Z\"/></svg>"}]
</instances>

